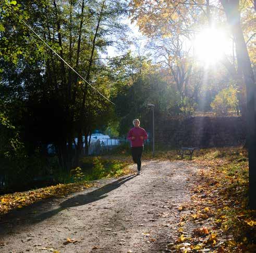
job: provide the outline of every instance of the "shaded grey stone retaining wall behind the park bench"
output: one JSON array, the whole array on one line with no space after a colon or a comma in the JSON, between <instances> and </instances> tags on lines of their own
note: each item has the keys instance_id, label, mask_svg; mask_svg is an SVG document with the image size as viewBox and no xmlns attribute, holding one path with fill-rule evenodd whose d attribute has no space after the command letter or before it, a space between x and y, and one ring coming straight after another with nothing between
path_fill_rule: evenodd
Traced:
<instances>
[{"instance_id":1,"label":"shaded grey stone retaining wall behind the park bench","mask_svg":"<svg viewBox=\"0 0 256 253\"><path fill-rule=\"evenodd\" d=\"M168 147L228 147L242 145L246 139L241 117L196 116L161 122L155 141Z\"/></svg>"}]
</instances>

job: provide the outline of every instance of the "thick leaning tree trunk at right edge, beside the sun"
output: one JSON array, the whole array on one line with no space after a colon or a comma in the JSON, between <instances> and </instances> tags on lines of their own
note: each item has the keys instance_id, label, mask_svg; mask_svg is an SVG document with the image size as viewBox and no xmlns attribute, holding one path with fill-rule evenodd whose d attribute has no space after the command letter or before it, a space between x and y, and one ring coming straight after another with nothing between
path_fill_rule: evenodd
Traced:
<instances>
[{"instance_id":1,"label":"thick leaning tree trunk at right edge, beside the sun","mask_svg":"<svg viewBox=\"0 0 256 253\"><path fill-rule=\"evenodd\" d=\"M221 0L222 6L227 16L227 21L231 27L235 44L237 48L237 61L241 68L243 79L246 84L247 95L247 143L248 143L248 158L249 158L249 207L256 209L256 140L255 140L255 82L251 66L250 57L248 54L245 38L243 37L239 0Z\"/></svg>"}]
</instances>

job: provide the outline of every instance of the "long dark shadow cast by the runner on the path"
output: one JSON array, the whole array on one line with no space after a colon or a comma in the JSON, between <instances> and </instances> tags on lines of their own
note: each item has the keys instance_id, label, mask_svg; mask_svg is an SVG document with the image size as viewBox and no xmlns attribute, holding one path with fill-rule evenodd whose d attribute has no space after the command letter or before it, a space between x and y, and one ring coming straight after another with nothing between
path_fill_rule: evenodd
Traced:
<instances>
[{"instance_id":1,"label":"long dark shadow cast by the runner on the path","mask_svg":"<svg viewBox=\"0 0 256 253\"><path fill-rule=\"evenodd\" d=\"M59 204L60 207L43 212L42 214L34 217L32 223L40 222L42 220L45 220L47 218L50 218L58 212L63 211L66 208L69 207L75 207L75 206L82 206L89 203L92 203L94 201L98 201L99 199L105 198L107 196L108 192L111 192L118 187L120 187L123 183L131 180L132 178L136 177L136 175L131 175L125 178L120 178L112 183L106 184L103 187L96 189L92 192L88 192L86 194L79 194L74 197L68 198L66 201Z\"/></svg>"}]
</instances>

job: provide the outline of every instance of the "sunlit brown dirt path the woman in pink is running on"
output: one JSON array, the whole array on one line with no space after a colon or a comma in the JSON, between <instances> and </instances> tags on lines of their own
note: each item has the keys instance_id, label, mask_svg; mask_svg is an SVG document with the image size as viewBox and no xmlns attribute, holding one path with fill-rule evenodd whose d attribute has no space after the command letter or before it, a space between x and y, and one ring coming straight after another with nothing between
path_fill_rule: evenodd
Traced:
<instances>
[{"instance_id":1,"label":"sunlit brown dirt path the woman in pink is running on","mask_svg":"<svg viewBox=\"0 0 256 253\"><path fill-rule=\"evenodd\" d=\"M15 210L0 224L0 252L166 252L196 170L190 162L144 162L140 176Z\"/></svg>"}]
</instances>

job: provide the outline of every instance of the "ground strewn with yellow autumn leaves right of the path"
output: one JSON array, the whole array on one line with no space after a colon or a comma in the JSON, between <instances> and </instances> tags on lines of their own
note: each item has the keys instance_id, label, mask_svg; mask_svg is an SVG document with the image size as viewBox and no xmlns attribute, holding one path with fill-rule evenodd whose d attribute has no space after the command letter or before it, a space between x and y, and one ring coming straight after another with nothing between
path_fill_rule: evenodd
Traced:
<instances>
[{"instance_id":1,"label":"ground strewn with yellow autumn leaves right of the path","mask_svg":"<svg viewBox=\"0 0 256 253\"><path fill-rule=\"evenodd\" d=\"M198 180L179 207L179 239L170 252L255 252L255 211L248 209L248 159L242 148L201 150Z\"/></svg>"}]
</instances>

